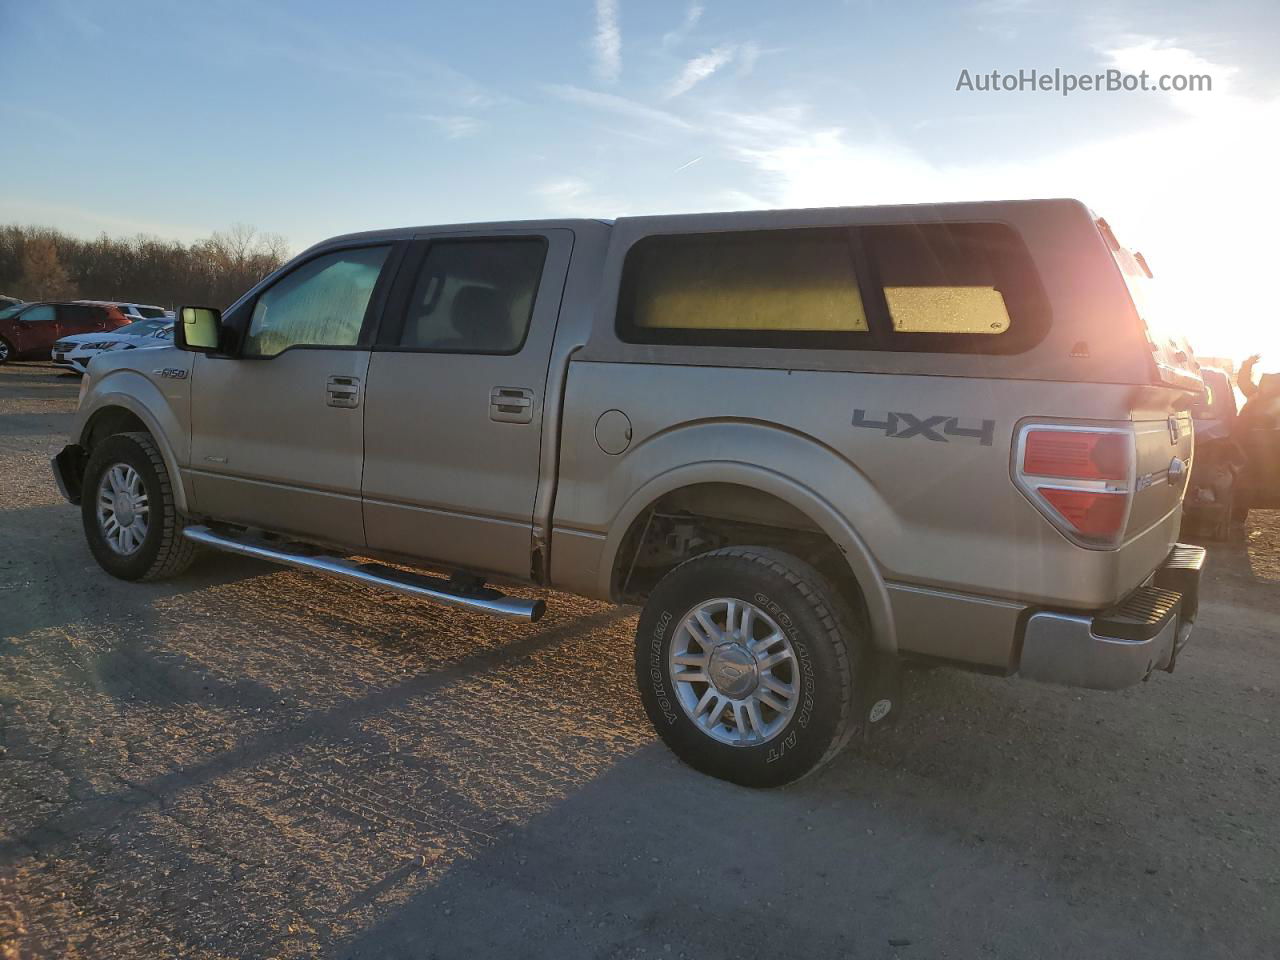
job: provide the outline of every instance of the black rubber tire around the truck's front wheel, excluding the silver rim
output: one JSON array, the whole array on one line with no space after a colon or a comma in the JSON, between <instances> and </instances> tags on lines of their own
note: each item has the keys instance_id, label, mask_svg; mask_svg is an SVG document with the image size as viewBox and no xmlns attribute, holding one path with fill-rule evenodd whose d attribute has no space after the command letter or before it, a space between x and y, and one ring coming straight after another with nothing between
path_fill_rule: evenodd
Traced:
<instances>
[{"instance_id":1,"label":"black rubber tire around the truck's front wheel, excluding the silver rim","mask_svg":"<svg viewBox=\"0 0 1280 960\"><path fill-rule=\"evenodd\" d=\"M116 467L136 472L136 483L145 490L147 503L146 532L128 554L110 545L100 521L100 486L108 471ZM93 448L84 467L81 517L93 558L120 580L175 576L191 566L196 553L196 545L182 535L184 524L174 507L173 483L150 434L115 434Z\"/></svg>"}]
</instances>

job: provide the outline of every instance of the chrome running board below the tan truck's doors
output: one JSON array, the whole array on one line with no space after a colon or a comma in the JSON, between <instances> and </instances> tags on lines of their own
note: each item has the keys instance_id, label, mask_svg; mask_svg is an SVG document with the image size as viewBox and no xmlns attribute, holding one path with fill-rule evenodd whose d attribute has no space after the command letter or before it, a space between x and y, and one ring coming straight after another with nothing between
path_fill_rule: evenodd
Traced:
<instances>
[{"instance_id":1,"label":"chrome running board below the tan truck's doors","mask_svg":"<svg viewBox=\"0 0 1280 960\"><path fill-rule=\"evenodd\" d=\"M346 557L311 556L293 552L284 549L283 545L264 540L238 539L225 534L215 534L207 526L188 526L183 530L183 536L205 547L212 547L216 550L238 553L241 557L255 557L270 561L271 563L283 563L287 567L326 573L353 584L378 586L384 590L404 594L406 596L416 596L420 600L435 600L451 607L466 607L467 609L479 611L494 617L534 623L547 612L547 603L544 600L520 600L490 589L460 591L443 577L408 573L394 567L384 567L380 563L357 563Z\"/></svg>"}]
</instances>

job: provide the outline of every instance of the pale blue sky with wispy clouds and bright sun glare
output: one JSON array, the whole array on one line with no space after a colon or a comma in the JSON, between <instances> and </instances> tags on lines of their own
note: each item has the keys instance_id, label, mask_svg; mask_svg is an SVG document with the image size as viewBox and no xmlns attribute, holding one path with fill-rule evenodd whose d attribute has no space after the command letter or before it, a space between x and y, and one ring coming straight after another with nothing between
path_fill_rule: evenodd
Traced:
<instances>
[{"instance_id":1,"label":"pale blue sky with wispy clouds and bright sun glare","mask_svg":"<svg viewBox=\"0 0 1280 960\"><path fill-rule=\"evenodd\" d=\"M396 225L1070 196L1268 356L1275 0L0 0L0 223ZM1019 69L1199 92L983 92Z\"/></svg>"}]
</instances>

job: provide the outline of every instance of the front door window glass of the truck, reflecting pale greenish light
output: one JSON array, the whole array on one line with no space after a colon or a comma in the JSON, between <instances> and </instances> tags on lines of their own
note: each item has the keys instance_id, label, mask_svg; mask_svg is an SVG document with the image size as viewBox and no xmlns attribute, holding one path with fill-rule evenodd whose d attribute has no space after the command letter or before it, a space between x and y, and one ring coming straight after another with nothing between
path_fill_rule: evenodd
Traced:
<instances>
[{"instance_id":1,"label":"front door window glass of the truck, reflecting pale greenish light","mask_svg":"<svg viewBox=\"0 0 1280 960\"><path fill-rule=\"evenodd\" d=\"M389 246L308 260L259 294L242 353L274 357L289 347L355 347Z\"/></svg>"}]
</instances>

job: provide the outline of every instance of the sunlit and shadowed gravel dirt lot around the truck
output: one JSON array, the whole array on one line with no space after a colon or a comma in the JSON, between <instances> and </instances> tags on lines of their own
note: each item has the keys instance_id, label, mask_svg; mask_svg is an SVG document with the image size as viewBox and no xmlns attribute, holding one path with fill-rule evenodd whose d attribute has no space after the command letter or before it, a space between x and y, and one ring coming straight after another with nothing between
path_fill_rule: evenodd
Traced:
<instances>
[{"instance_id":1,"label":"sunlit and shadowed gravel dirt lot around the truck","mask_svg":"<svg viewBox=\"0 0 1280 960\"><path fill-rule=\"evenodd\" d=\"M110 580L46 467L76 389L0 369L0 956L1280 956L1276 515L1174 676L911 673L753 792L655 742L625 609Z\"/></svg>"}]
</instances>

